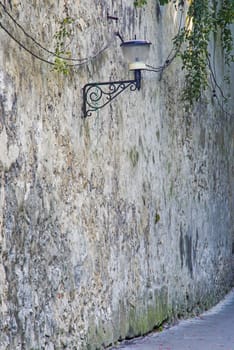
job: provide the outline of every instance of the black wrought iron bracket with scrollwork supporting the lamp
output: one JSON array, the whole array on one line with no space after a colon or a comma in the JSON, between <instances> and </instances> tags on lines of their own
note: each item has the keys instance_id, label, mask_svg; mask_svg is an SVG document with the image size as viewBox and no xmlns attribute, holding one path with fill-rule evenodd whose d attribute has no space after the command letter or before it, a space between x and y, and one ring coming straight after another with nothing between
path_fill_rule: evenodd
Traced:
<instances>
[{"instance_id":1,"label":"black wrought iron bracket with scrollwork supporting the lamp","mask_svg":"<svg viewBox=\"0 0 234 350\"><path fill-rule=\"evenodd\" d=\"M83 87L83 118L90 117L95 112L121 94L126 89L140 90L141 70L134 71L135 79L88 83Z\"/></svg>"}]
</instances>

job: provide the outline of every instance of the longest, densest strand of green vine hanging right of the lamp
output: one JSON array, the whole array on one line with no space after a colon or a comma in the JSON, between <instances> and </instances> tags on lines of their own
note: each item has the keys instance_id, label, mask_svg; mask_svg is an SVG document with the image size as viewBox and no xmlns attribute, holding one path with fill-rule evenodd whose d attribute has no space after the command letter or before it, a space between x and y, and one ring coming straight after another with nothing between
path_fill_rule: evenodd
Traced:
<instances>
[{"instance_id":1,"label":"longest, densest strand of green vine hanging right of the lamp","mask_svg":"<svg viewBox=\"0 0 234 350\"><path fill-rule=\"evenodd\" d=\"M209 0L192 1L187 16L189 25L174 38L174 45L181 48L178 55L185 70L182 99L193 104L208 86L208 45L210 33L214 30Z\"/></svg>"}]
</instances>

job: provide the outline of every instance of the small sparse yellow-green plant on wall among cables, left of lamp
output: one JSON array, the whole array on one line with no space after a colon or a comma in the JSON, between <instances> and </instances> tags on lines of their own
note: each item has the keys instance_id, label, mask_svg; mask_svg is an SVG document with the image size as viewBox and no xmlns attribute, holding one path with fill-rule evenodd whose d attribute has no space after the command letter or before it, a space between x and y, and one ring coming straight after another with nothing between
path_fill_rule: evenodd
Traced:
<instances>
[{"instance_id":1,"label":"small sparse yellow-green plant on wall among cables, left of lamp","mask_svg":"<svg viewBox=\"0 0 234 350\"><path fill-rule=\"evenodd\" d=\"M72 36L71 24L74 22L74 19L71 17L65 17L59 22L59 29L54 35L56 40L55 44L55 53L56 57L54 60L53 70L59 73L67 75L70 71L66 58L71 57L71 51L67 50L67 40ZM64 59L61 58L64 56Z\"/></svg>"}]
</instances>

